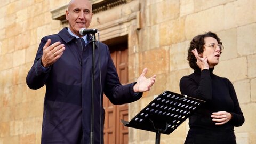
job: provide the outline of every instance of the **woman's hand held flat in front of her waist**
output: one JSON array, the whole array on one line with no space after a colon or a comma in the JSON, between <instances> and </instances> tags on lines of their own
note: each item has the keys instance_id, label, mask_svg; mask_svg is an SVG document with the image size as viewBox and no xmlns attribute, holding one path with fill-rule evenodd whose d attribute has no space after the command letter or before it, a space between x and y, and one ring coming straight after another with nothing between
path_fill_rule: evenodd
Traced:
<instances>
[{"instance_id":1,"label":"woman's hand held flat in front of her waist","mask_svg":"<svg viewBox=\"0 0 256 144\"><path fill-rule=\"evenodd\" d=\"M232 115L227 111L214 112L212 113L211 117L212 121L216 122L215 125L225 124L232 119Z\"/></svg>"}]
</instances>

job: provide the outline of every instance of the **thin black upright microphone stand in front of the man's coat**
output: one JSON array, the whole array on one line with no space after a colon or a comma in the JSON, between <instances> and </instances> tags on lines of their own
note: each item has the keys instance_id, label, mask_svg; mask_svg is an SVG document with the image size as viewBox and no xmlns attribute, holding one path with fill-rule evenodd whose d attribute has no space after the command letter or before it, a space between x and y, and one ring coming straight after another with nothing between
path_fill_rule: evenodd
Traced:
<instances>
[{"instance_id":1,"label":"thin black upright microphone stand in front of the man's coat","mask_svg":"<svg viewBox=\"0 0 256 144\"><path fill-rule=\"evenodd\" d=\"M94 121L94 99L93 99L93 93L94 93L94 73L95 73L95 63L94 63L94 59L95 59L95 42L96 42L96 38L95 38L95 33L92 34L92 95L91 95L91 133L90 133L90 144L94 143L94 133L93 133L93 121Z\"/></svg>"}]
</instances>

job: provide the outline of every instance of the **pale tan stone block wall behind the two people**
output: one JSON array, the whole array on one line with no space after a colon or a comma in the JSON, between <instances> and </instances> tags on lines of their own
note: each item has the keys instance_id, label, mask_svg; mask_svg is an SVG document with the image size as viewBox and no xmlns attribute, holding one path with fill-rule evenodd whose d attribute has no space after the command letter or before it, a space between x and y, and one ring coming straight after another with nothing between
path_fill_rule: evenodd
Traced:
<instances>
[{"instance_id":1,"label":"pale tan stone block wall behind the two people","mask_svg":"<svg viewBox=\"0 0 256 144\"><path fill-rule=\"evenodd\" d=\"M113 25L121 29L117 36L128 35L130 82L144 67L149 68L147 76L157 75L151 91L129 105L130 118L162 91L180 93L180 78L193 72L186 61L191 38L213 31L225 46L214 73L234 84L245 116L243 126L235 128L237 143L256 143L256 1L127 2L95 14L91 26L101 29L105 40ZM50 11L67 3L68 0L0 3L0 144L40 143L45 87L30 90L26 76L41 38L63 27L61 21L52 20ZM186 121L170 135L162 134L161 143L183 143L188 129ZM129 129L129 143L154 142L155 133Z\"/></svg>"}]
</instances>

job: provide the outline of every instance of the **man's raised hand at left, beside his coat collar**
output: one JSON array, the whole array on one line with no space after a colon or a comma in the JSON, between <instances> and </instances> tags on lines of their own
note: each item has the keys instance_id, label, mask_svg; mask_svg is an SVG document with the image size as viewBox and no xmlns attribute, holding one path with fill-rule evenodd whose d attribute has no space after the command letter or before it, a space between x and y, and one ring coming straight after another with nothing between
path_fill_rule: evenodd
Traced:
<instances>
[{"instance_id":1,"label":"man's raised hand at left, beside his coat collar","mask_svg":"<svg viewBox=\"0 0 256 144\"><path fill-rule=\"evenodd\" d=\"M42 66L43 67L50 67L54 62L56 62L63 51L65 50L65 45L61 44L60 42L55 42L51 44L51 39L48 39L43 47L43 55L42 55Z\"/></svg>"}]
</instances>

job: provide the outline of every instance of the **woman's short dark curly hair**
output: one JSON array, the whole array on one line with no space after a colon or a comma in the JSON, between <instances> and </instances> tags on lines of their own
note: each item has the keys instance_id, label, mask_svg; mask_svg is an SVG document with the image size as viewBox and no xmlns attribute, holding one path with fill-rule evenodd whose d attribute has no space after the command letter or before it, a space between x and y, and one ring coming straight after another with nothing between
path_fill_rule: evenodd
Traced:
<instances>
[{"instance_id":1,"label":"woman's short dark curly hair","mask_svg":"<svg viewBox=\"0 0 256 144\"><path fill-rule=\"evenodd\" d=\"M203 53L204 49L205 49L204 48L204 45L205 45L204 38L205 37L213 37L217 40L218 44L222 44L220 42L220 38L215 33L212 33L211 31L209 31L205 34L202 34L202 35L195 36L189 44L188 57L187 57L187 60L189 62L189 66L194 70L198 70L198 69L200 70L200 68L197 66L196 57L191 51L196 49L198 54Z\"/></svg>"}]
</instances>

